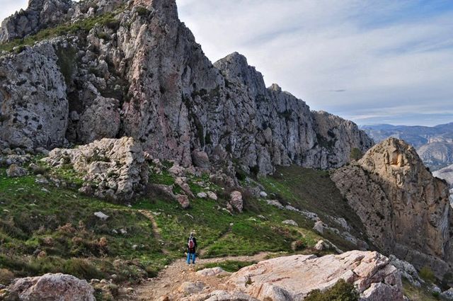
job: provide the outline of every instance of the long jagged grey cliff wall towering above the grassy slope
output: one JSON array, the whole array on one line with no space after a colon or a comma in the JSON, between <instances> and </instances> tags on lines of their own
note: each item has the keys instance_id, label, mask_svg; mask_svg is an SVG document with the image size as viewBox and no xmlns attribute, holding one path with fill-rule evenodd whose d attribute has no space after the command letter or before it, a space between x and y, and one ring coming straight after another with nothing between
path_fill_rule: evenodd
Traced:
<instances>
[{"instance_id":1,"label":"long jagged grey cliff wall towering above the grassy slope","mask_svg":"<svg viewBox=\"0 0 453 301\"><path fill-rule=\"evenodd\" d=\"M55 98L35 96L57 108L40 111L30 105L28 115L38 118L40 113L52 112L60 126L47 121L38 128L32 123L33 134L29 133L32 129L14 138L18 126L11 121L3 123L1 131L11 135L0 136L1 140L16 143L26 137L30 141L19 146L54 147L61 144L64 134L77 144L103 137L134 137L154 158L172 159L181 166L226 166L230 171L234 171L234 161L252 174L270 174L277 164L334 168L349 161L352 148L365 152L372 146L372 140L350 121L311 112L304 101L276 84L266 88L263 76L242 55L234 53L212 64L178 20L176 1L91 2L88 7L86 1L33 0L23 13L28 20L25 24L33 19L33 25L25 26L27 30L11 25L20 23L21 16L5 21L4 37L22 37L47 26L45 18L29 17L35 12L41 15L47 9L45 16L52 11L55 20L76 22L122 5L114 21L98 23L88 35L52 40L55 50L46 48L50 62L40 64L39 57L36 62L30 57L30 64L50 68L47 73L60 81L46 86ZM38 50L27 47L25 54ZM53 52L59 62L55 72ZM27 76L26 68L18 68L23 56L7 55L0 61L0 70L11 65L15 76ZM32 82L46 83L47 73L37 74ZM14 83L11 96L3 93L8 103L3 100L2 116L30 91L28 82L24 89Z\"/></svg>"}]
</instances>

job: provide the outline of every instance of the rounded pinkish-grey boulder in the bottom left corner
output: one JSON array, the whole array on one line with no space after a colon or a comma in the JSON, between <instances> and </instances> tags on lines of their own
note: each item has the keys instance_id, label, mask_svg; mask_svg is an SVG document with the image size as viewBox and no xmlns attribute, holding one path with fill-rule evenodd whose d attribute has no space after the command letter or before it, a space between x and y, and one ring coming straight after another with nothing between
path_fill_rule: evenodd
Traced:
<instances>
[{"instance_id":1,"label":"rounded pinkish-grey boulder in the bottom left corner","mask_svg":"<svg viewBox=\"0 0 453 301\"><path fill-rule=\"evenodd\" d=\"M10 287L20 301L96 301L94 290L86 282L64 274L19 278Z\"/></svg>"}]
</instances>

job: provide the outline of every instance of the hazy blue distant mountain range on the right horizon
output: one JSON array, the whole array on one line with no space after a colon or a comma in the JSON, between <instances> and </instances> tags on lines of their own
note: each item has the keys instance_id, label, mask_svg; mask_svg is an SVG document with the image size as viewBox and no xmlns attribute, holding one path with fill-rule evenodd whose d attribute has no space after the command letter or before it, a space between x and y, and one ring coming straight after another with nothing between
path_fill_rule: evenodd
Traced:
<instances>
[{"instance_id":1,"label":"hazy blue distant mountain range on the right horizon","mask_svg":"<svg viewBox=\"0 0 453 301\"><path fill-rule=\"evenodd\" d=\"M430 169L442 169L453 164L453 123L425 127L420 125L362 125L374 142L396 137L412 144Z\"/></svg>"}]
</instances>

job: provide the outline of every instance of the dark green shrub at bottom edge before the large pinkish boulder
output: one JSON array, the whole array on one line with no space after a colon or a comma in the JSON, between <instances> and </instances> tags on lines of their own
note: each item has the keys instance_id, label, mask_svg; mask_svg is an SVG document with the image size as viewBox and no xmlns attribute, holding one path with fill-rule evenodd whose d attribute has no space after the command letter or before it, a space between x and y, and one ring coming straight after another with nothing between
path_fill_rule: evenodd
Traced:
<instances>
[{"instance_id":1,"label":"dark green shrub at bottom edge before the large pinkish boulder","mask_svg":"<svg viewBox=\"0 0 453 301\"><path fill-rule=\"evenodd\" d=\"M340 279L332 288L321 292L321 290L312 290L305 301L358 301L359 295L354 285Z\"/></svg>"}]
</instances>

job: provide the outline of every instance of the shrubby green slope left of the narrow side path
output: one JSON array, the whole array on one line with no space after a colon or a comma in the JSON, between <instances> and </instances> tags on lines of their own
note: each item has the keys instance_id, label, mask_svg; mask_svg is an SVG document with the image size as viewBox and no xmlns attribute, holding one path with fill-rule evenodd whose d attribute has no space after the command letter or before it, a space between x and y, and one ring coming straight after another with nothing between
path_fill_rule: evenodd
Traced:
<instances>
[{"instance_id":1,"label":"shrubby green slope left of the narrow side path","mask_svg":"<svg viewBox=\"0 0 453 301\"><path fill-rule=\"evenodd\" d=\"M172 260L139 212L68 188L42 188L35 178L6 178L0 169L2 283L8 282L9 273L48 272L85 279L115 274L118 282L134 281L156 275ZM97 211L110 217L102 221L93 215Z\"/></svg>"}]
</instances>

